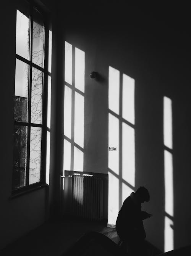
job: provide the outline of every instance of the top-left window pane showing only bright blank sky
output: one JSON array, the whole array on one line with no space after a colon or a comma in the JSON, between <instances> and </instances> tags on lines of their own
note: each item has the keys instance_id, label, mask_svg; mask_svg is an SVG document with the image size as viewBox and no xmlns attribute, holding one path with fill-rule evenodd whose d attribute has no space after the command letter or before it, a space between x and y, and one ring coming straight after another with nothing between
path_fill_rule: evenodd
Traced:
<instances>
[{"instance_id":1,"label":"top-left window pane showing only bright blank sky","mask_svg":"<svg viewBox=\"0 0 191 256\"><path fill-rule=\"evenodd\" d=\"M16 11L16 53L25 59L29 59L28 17L19 10Z\"/></svg>"}]
</instances>

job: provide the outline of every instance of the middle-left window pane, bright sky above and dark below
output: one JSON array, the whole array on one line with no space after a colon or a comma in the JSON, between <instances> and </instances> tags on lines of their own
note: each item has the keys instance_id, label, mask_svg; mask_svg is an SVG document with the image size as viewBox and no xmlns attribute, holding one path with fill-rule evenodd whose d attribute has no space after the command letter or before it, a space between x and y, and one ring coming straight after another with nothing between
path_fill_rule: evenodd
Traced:
<instances>
[{"instance_id":1,"label":"middle-left window pane, bright sky above and dark below","mask_svg":"<svg viewBox=\"0 0 191 256\"><path fill-rule=\"evenodd\" d=\"M28 116L28 64L16 59L14 120L27 122Z\"/></svg>"}]
</instances>

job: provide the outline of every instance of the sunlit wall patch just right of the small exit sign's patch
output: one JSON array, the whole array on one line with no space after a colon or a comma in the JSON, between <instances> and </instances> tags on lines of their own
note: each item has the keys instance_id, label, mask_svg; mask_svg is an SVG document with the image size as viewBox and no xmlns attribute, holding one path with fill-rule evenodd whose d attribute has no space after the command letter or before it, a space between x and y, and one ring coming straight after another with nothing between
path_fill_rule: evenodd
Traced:
<instances>
[{"instance_id":1,"label":"sunlit wall patch just right of the small exit sign's patch","mask_svg":"<svg viewBox=\"0 0 191 256\"><path fill-rule=\"evenodd\" d=\"M122 124L122 178L135 186L134 128Z\"/></svg>"}]
</instances>

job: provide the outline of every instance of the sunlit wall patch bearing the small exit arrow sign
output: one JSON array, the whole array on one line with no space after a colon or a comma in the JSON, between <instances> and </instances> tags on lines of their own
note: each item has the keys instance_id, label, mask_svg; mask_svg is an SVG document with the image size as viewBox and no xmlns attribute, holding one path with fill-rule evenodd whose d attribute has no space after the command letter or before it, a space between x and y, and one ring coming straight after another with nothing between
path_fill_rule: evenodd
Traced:
<instances>
[{"instance_id":1,"label":"sunlit wall patch bearing the small exit arrow sign","mask_svg":"<svg viewBox=\"0 0 191 256\"><path fill-rule=\"evenodd\" d=\"M109 113L108 144L117 147L117 151L108 151L108 167L119 174L119 119Z\"/></svg>"}]
</instances>

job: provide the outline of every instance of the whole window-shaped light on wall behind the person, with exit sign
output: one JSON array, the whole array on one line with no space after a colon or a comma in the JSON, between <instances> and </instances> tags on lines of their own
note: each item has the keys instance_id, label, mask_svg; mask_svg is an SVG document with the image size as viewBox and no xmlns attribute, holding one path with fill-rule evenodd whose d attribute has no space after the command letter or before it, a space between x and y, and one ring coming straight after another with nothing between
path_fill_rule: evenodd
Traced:
<instances>
[{"instance_id":1,"label":"whole window-shaped light on wall behind the person, with exit sign","mask_svg":"<svg viewBox=\"0 0 191 256\"><path fill-rule=\"evenodd\" d=\"M108 225L115 225L123 201L135 189L133 78L108 70Z\"/></svg>"}]
</instances>

